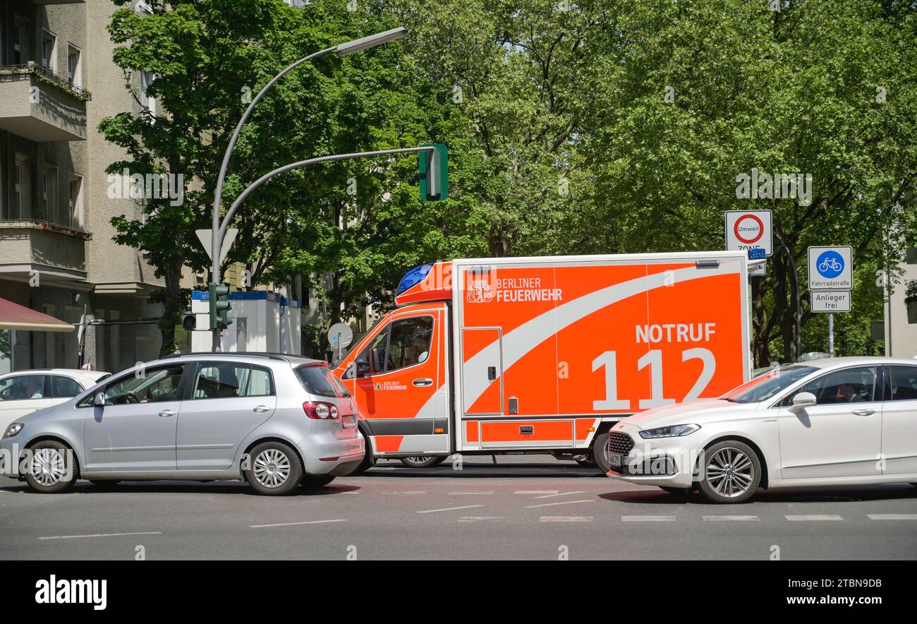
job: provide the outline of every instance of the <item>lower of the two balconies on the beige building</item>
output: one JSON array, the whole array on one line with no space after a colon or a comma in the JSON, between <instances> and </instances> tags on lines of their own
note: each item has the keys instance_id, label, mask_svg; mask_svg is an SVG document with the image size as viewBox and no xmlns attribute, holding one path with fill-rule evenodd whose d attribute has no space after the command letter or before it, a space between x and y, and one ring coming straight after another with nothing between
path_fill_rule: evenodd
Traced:
<instances>
[{"instance_id":1,"label":"lower of the two balconies on the beige building","mask_svg":"<svg viewBox=\"0 0 917 624\"><path fill-rule=\"evenodd\" d=\"M0 221L0 277L53 285L86 280L89 232L35 219ZM38 284L37 284L38 285Z\"/></svg>"}]
</instances>

